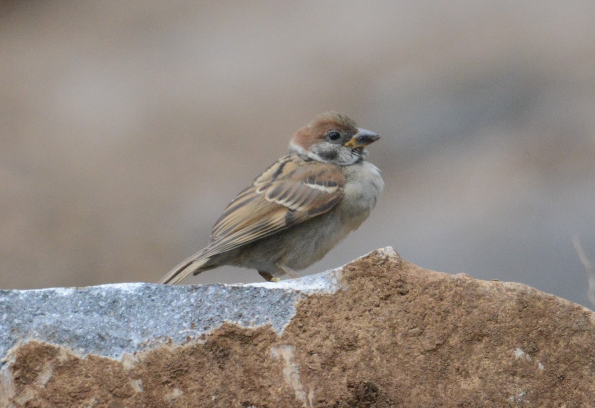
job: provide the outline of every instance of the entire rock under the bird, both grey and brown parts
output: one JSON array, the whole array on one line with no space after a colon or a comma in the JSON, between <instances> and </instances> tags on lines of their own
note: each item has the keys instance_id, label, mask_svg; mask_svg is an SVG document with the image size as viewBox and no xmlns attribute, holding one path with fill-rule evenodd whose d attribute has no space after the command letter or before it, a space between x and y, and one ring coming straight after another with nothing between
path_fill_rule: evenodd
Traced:
<instances>
[{"instance_id":1,"label":"entire rock under the bird, both grey and brown parts","mask_svg":"<svg viewBox=\"0 0 595 408\"><path fill-rule=\"evenodd\" d=\"M380 249L280 283L0 291L0 407L591 406L595 314Z\"/></svg>"}]
</instances>

